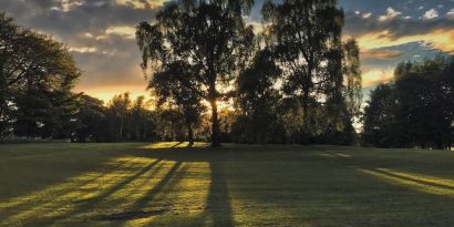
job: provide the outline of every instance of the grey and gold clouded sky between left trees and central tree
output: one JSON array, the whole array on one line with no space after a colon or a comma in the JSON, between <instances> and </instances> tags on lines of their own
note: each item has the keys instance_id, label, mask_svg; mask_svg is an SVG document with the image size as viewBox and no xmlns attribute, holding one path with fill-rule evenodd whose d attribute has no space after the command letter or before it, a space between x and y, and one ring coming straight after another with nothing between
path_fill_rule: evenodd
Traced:
<instances>
[{"instance_id":1,"label":"grey and gold clouded sky between left trees and central tree","mask_svg":"<svg viewBox=\"0 0 454 227\"><path fill-rule=\"evenodd\" d=\"M164 2L0 0L0 9L13 17L16 23L50 33L69 45L83 71L76 91L91 95L102 92L105 99L109 87L113 94L145 90L147 83L140 68L134 30L140 22L151 21Z\"/></svg>"}]
</instances>

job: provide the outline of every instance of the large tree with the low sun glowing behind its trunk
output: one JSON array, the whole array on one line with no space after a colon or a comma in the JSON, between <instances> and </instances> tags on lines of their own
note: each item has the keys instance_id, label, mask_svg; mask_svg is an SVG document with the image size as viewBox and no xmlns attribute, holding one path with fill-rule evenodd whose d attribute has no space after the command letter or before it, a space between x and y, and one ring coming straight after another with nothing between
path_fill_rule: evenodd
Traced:
<instances>
[{"instance_id":1,"label":"large tree with the low sun glowing behind its trunk","mask_svg":"<svg viewBox=\"0 0 454 227\"><path fill-rule=\"evenodd\" d=\"M249 58L252 27L243 16L252 0L184 0L169 3L156 22L137 27L143 66L163 72L175 62L190 69L194 94L211 109L211 145L220 145L218 103L228 97L233 79Z\"/></svg>"}]
</instances>

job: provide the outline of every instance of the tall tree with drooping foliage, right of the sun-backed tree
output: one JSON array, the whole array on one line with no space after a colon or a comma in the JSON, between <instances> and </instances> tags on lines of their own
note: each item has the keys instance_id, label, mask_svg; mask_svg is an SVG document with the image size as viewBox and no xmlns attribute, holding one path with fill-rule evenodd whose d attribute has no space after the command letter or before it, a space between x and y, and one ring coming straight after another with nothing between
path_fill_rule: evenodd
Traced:
<instances>
[{"instance_id":1,"label":"tall tree with drooping foliage, right of the sun-backed tree","mask_svg":"<svg viewBox=\"0 0 454 227\"><path fill-rule=\"evenodd\" d=\"M344 111L357 112L359 51L354 41L341 41L343 11L337 1L283 0L276 4L269 0L262 14L267 42L283 70L283 92L302 105L301 133L313 133L311 112L317 112L320 103L331 106L327 110L336 121Z\"/></svg>"}]
</instances>

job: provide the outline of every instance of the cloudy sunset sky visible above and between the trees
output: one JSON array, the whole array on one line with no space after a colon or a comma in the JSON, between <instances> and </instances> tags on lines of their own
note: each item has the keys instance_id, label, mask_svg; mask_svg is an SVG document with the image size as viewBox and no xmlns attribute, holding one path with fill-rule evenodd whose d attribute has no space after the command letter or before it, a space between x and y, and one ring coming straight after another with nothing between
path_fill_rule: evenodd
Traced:
<instances>
[{"instance_id":1,"label":"cloudy sunset sky visible above and between the trees","mask_svg":"<svg viewBox=\"0 0 454 227\"><path fill-rule=\"evenodd\" d=\"M114 94L148 95L140 68L135 25L153 21L169 0L0 0L16 22L65 43L83 71L75 92L107 101ZM264 0L246 19L259 24ZM277 0L278 1L278 0ZM393 80L402 61L454 53L454 0L338 0L344 38L361 48L364 91Z\"/></svg>"}]
</instances>

